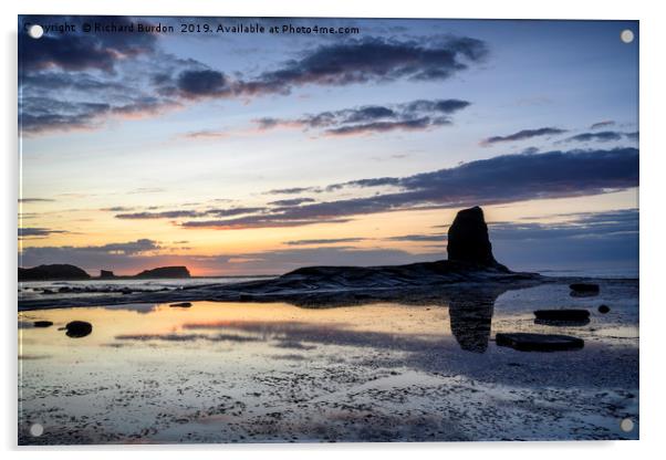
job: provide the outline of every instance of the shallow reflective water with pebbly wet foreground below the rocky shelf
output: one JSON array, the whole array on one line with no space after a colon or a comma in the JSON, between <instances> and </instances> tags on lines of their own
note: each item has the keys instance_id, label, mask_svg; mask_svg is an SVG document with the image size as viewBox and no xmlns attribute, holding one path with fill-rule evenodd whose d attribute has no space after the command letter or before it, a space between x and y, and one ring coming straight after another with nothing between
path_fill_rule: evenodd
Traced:
<instances>
[{"instance_id":1,"label":"shallow reflective water with pebbly wet foreground below the rocky shelf","mask_svg":"<svg viewBox=\"0 0 666 460\"><path fill-rule=\"evenodd\" d=\"M549 284L431 305L21 312L19 441L636 439L638 286L601 285L583 299ZM543 307L587 307L591 322L537 325ZM67 337L74 320L92 334ZM522 353L496 346L498 332L571 334L585 347ZM31 437L32 424L44 433Z\"/></svg>"}]
</instances>

